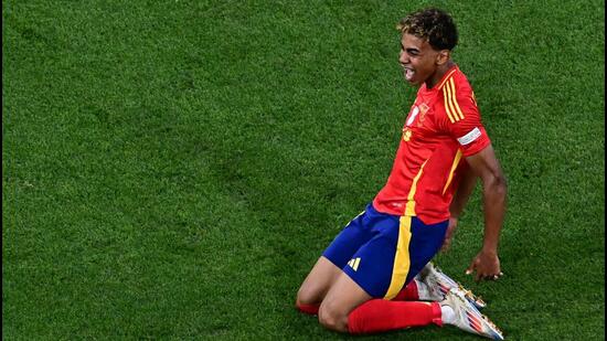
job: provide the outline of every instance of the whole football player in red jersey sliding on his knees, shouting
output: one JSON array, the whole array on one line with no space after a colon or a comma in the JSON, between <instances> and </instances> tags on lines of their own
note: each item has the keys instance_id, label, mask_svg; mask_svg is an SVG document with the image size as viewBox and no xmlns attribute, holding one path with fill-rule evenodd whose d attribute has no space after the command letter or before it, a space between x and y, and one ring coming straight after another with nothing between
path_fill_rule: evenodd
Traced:
<instances>
[{"instance_id":1,"label":"whole football player in red jersey sliding on his knees, shouting","mask_svg":"<svg viewBox=\"0 0 607 341\"><path fill-rule=\"evenodd\" d=\"M418 86L385 187L333 239L301 285L296 306L330 330L373 333L451 324L502 340L476 298L428 262L450 242L457 217L480 178L482 248L467 274L502 276L498 242L507 185L481 122L475 94L451 58L458 33L451 17L429 8L400 22L398 62ZM424 269L424 271L422 271ZM419 274L422 271L422 274ZM448 278L448 277L447 277ZM446 280L441 281L443 284Z\"/></svg>"}]
</instances>

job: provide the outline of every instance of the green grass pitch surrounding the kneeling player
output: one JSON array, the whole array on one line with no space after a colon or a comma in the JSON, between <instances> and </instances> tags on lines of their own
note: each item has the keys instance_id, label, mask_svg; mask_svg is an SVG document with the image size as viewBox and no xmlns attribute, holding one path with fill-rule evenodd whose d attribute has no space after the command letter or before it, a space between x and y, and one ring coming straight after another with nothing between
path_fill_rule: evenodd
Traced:
<instances>
[{"instance_id":1,"label":"green grass pitch surrounding the kneeling player","mask_svg":"<svg viewBox=\"0 0 607 341\"><path fill-rule=\"evenodd\" d=\"M604 1L2 1L2 339L480 340L326 331L294 308L383 187L436 4L509 180L505 276L437 264L507 340L604 340Z\"/></svg>"}]
</instances>

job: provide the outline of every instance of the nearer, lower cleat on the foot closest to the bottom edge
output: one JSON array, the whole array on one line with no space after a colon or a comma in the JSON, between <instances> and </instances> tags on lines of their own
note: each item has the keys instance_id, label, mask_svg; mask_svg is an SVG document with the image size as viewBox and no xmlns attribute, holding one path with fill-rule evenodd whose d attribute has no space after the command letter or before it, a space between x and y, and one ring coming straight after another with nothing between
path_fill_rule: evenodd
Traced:
<instances>
[{"instance_id":1,"label":"nearer, lower cleat on the foot closest to the bottom edge","mask_svg":"<svg viewBox=\"0 0 607 341\"><path fill-rule=\"evenodd\" d=\"M468 332L492 340L503 340L503 332L488 317L480 313L458 288L451 288L445 296L441 306L449 306L455 311L455 321L450 324Z\"/></svg>"}]
</instances>

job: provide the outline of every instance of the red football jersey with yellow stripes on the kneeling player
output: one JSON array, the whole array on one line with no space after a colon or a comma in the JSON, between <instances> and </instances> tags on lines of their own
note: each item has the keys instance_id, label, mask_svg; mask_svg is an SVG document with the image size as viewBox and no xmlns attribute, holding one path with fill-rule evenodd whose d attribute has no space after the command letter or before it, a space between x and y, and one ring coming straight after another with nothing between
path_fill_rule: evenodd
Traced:
<instances>
[{"instance_id":1,"label":"red football jersey with yellow stripes on the kneeling player","mask_svg":"<svg viewBox=\"0 0 607 341\"><path fill-rule=\"evenodd\" d=\"M433 88L419 87L392 172L373 206L384 213L417 216L425 224L449 219L465 157L490 142L472 87L454 66Z\"/></svg>"}]
</instances>

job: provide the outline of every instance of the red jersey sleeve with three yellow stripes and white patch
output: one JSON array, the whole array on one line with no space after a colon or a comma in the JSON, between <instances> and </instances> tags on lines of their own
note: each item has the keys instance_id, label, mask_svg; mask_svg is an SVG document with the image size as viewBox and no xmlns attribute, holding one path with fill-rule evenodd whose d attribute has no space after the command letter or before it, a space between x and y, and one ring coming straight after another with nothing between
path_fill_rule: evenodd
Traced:
<instances>
[{"instance_id":1,"label":"red jersey sleeve with three yellow stripes and white patch","mask_svg":"<svg viewBox=\"0 0 607 341\"><path fill-rule=\"evenodd\" d=\"M491 143L480 120L480 113L471 90L445 86L444 106L446 116L443 127L459 143L465 157L472 156Z\"/></svg>"}]
</instances>

